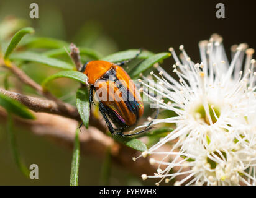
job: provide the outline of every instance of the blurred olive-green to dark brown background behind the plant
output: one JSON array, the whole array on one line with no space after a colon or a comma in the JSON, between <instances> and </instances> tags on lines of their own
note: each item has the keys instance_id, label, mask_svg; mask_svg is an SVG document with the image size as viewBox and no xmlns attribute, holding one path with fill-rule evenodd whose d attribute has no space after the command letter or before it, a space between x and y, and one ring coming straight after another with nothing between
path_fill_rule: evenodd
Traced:
<instances>
[{"instance_id":1,"label":"blurred olive-green to dark brown background behind the plant","mask_svg":"<svg viewBox=\"0 0 256 198\"><path fill-rule=\"evenodd\" d=\"M29 17L29 5L32 2L39 5L39 19ZM226 6L226 19L216 18L215 7L218 2L1 0L0 20L9 15L21 17L35 28L36 35L79 43L79 46L88 46L103 55L141 47L153 52L167 51L170 46L178 50L178 46L183 44L194 62L199 62L198 41L208 39L212 33L224 37L227 54L233 44L245 42L254 48L254 1L221 1ZM172 64L172 59L164 62L167 71L170 71ZM29 72L33 71L27 70ZM35 80L40 82L42 79ZM62 90L56 88L55 95L63 94ZM16 136L25 163L39 165L39 179L25 179L17 170L7 144L6 129L0 125L0 185L69 184L71 150L18 127ZM93 156L81 157L80 185L99 184L101 163ZM113 165L110 184L153 182L144 183L140 178Z\"/></svg>"}]
</instances>

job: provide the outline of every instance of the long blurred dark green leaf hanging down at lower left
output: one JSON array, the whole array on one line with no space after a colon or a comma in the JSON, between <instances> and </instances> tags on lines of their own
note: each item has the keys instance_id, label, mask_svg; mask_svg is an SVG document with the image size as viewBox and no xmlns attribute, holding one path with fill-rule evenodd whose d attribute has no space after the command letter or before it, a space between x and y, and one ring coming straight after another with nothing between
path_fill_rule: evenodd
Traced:
<instances>
[{"instance_id":1,"label":"long blurred dark green leaf hanging down at lower left","mask_svg":"<svg viewBox=\"0 0 256 198\"><path fill-rule=\"evenodd\" d=\"M29 169L23 163L23 160L22 160L21 156L19 155L19 152L17 149L17 142L16 142L16 138L14 136L13 120L12 120L11 113L8 113L8 116L7 116L7 132L8 132L8 138L9 138L9 142L11 145L11 151L12 151L12 156L14 158L14 161L15 161L17 167L19 168L19 170L21 171L21 173L24 174L24 176L26 178L29 178Z\"/></svg>"}]
</instances>

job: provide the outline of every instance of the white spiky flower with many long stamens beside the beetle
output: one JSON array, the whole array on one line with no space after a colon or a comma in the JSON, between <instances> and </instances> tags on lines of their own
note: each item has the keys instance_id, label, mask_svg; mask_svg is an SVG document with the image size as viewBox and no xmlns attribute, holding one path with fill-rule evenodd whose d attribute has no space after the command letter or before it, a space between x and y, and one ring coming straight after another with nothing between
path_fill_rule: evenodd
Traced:
<instances>
[{"instance_id":1,"label":"white spiky flower with many long stamens beside the beetle","mask_svg":"<svg viewBox=\"0 0 256 198\"><path fill-rule=\"evenodd\" d=\"M178 80L156 66L159 75L150 74L157 84L146 77L141 81L144 88L165 98L148 95L152 101L176 113L175 117L153 121L175 123L176 129L143 153L144 157L162 155L162 161L151 161L165 166L154 176L144 174L144 179L162 178L160 181L165 179L168 183L183 175L176 185L256 185L254 49L247 49L244 43L232 46L229 63L222 37L214 34L209 41L199 42L201 63L192 62L183 45L180 59L173 48L170 51L176 62L172 70ZM170 143L170 152L158 151ZM175 160L167 161L170 155ZM176 173L171 172L177 167Z\"/></svg>"}]
</instances>

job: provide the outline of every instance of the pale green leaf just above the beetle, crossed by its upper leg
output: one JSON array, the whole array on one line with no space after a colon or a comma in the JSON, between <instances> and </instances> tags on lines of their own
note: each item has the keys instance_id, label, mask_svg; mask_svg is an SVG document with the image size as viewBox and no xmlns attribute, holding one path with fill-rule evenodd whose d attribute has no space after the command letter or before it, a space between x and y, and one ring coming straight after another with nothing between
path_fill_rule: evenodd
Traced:
<instances>
[{"instance_id":1,"label":"pale green leaf just above the beetle, crossed by its upper leg","mask_svg":"<svg viewBox=\"0 0 256 198\"><path fill-rule=\"evenodd\" d=\"M139 53L139 49L129 49L127 51L119 51L117 53L106 56L103 58L103 60L109 61L109 62L121 62L121 61L126 61L134 58L138 53ZM144 50L142 51L142 53L140 53L138 58L147 59L152 55L153 55L152 52Z\"/></svg>"}]
</instances>

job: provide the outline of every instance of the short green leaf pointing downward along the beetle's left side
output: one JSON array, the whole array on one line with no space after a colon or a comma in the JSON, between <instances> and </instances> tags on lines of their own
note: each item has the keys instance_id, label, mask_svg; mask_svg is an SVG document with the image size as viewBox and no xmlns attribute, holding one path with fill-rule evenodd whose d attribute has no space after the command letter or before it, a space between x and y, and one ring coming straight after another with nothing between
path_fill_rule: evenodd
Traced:
<instances>
[{"instance_id":1,"label":"short green leaf pointing downward along the beetle's left side","mask_svg":"<svg viewBox=\"0 0 256 198\"><path fill-rule=\"evenodd\" d=\"M89 93L86 87L81 87L76 92L76 107L86 129L89 126Z\"/></svg>"}]
</instances>

